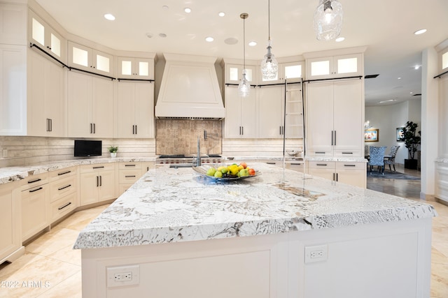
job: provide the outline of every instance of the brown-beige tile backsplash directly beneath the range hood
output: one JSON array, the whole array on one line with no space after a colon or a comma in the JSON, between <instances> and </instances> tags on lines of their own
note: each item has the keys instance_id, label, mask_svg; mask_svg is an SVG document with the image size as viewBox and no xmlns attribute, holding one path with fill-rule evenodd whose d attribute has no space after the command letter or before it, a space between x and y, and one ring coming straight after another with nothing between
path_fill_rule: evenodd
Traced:
<instances>
[{"instance_id":1,"label":"brown-beige tile backsplash directly beneath the range hood","mask_svg":"<svg viewBox=\"0 0 448 298\"><path fill-rule=\"evenodd\" d=\"M197 154L197 137L200 137L201 154L221 154L223 121L156 120L155 154Z\"/></svg>"}]
</instances>

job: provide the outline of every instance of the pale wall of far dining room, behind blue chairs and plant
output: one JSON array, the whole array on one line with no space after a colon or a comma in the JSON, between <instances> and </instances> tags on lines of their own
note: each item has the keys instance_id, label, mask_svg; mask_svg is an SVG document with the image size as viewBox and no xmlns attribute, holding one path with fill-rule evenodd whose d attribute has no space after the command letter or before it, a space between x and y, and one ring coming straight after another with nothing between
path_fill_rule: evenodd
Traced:
<instances>
[{"instance_id":1,"label":"pale wall of far dining room, behind blue chairs and plant","mask_svg":"<svg viewBox=\"0 0 448 298\"><path fill-rule=\"evenodd\" d=\"M412 98L403 103L395 105L383 105L375 107L365 107L365 121L370 121L372 128L379 129L379 142L366 142L365 144L372 146L387 146L386 153L394 146L400 146L396 163L405 163L405 158L408 158L407 148L404 142L397 142L396 128L405 126L407 121L413 121L419 124L421 128L421 99Z\"/></svg>"}]
</instances>

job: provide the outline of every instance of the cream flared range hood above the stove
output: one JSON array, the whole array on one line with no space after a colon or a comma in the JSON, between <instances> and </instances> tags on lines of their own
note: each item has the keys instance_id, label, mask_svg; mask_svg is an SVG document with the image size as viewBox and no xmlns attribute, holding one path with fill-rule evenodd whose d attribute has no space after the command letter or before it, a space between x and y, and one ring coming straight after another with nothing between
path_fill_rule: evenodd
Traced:
<instances>
[{"instance_id":1,"label":"cream flared range hood above the stove","mask_svg":"<svg viewBox=\"0 0 448 298\"><path fill-rule=\"evenodd\" d=\"M158 119L223 119L216 57L164 54L165 70L155 104Z\"/></svg>"}]
</instances>

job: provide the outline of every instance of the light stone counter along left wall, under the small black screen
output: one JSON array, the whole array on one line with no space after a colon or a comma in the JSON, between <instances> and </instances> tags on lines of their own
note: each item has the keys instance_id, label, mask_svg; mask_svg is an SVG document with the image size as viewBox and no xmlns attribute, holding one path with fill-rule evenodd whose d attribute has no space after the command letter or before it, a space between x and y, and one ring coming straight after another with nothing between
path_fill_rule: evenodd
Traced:
<instances>
[{"instance_id":1,"label":"light stone counter along left wall, under the small black screen","mask_svg":"<svg viewBox=\"0 0 448 298\"><path fill-rule=\"evenodd\" d=\"M119 163L137 161L155 161L155 157L80 158L66 161L50 161L48 163L24 165L21 167L0 167L0 184L18 181L32 175L61 170L66 167L73 167L75 165L94 165L96 163Z\"/></svg>"}]
</instances>

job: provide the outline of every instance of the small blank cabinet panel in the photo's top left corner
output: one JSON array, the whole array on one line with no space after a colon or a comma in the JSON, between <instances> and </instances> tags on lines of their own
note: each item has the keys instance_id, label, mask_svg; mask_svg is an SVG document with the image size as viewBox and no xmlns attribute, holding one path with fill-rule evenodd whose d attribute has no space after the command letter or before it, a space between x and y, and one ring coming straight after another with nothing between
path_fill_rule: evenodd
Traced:
<instances>
[{"instance_id":1,"label":"small blank cabinet panel in the photo's top left corner","mask_svg":"<svg viewBox=\"0 0 448 298\"><path fill-rule=\"evenodd\" d=\"M0 3L0 43L27 45L27 6Z\"/></svg>"}]
</instances>

